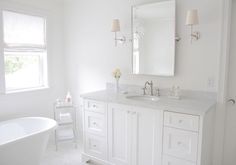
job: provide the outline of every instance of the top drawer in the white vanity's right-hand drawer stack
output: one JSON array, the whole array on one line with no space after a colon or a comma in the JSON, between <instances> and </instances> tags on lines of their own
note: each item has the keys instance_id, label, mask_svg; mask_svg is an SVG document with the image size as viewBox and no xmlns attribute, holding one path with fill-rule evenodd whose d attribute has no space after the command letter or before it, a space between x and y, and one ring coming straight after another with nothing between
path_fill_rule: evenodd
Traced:
<instances>
[{"instance_id":1,"label":"top drawer in the white vanity's right-hand drawer stack","mask_svg":"<svg viewBox=\"0 0 236 165\"><path fill-rule=\"evenodd\" d=\"M198 131L199 116L164 112L164 125L189 131Z\"/></svg>"}]
</instances>

